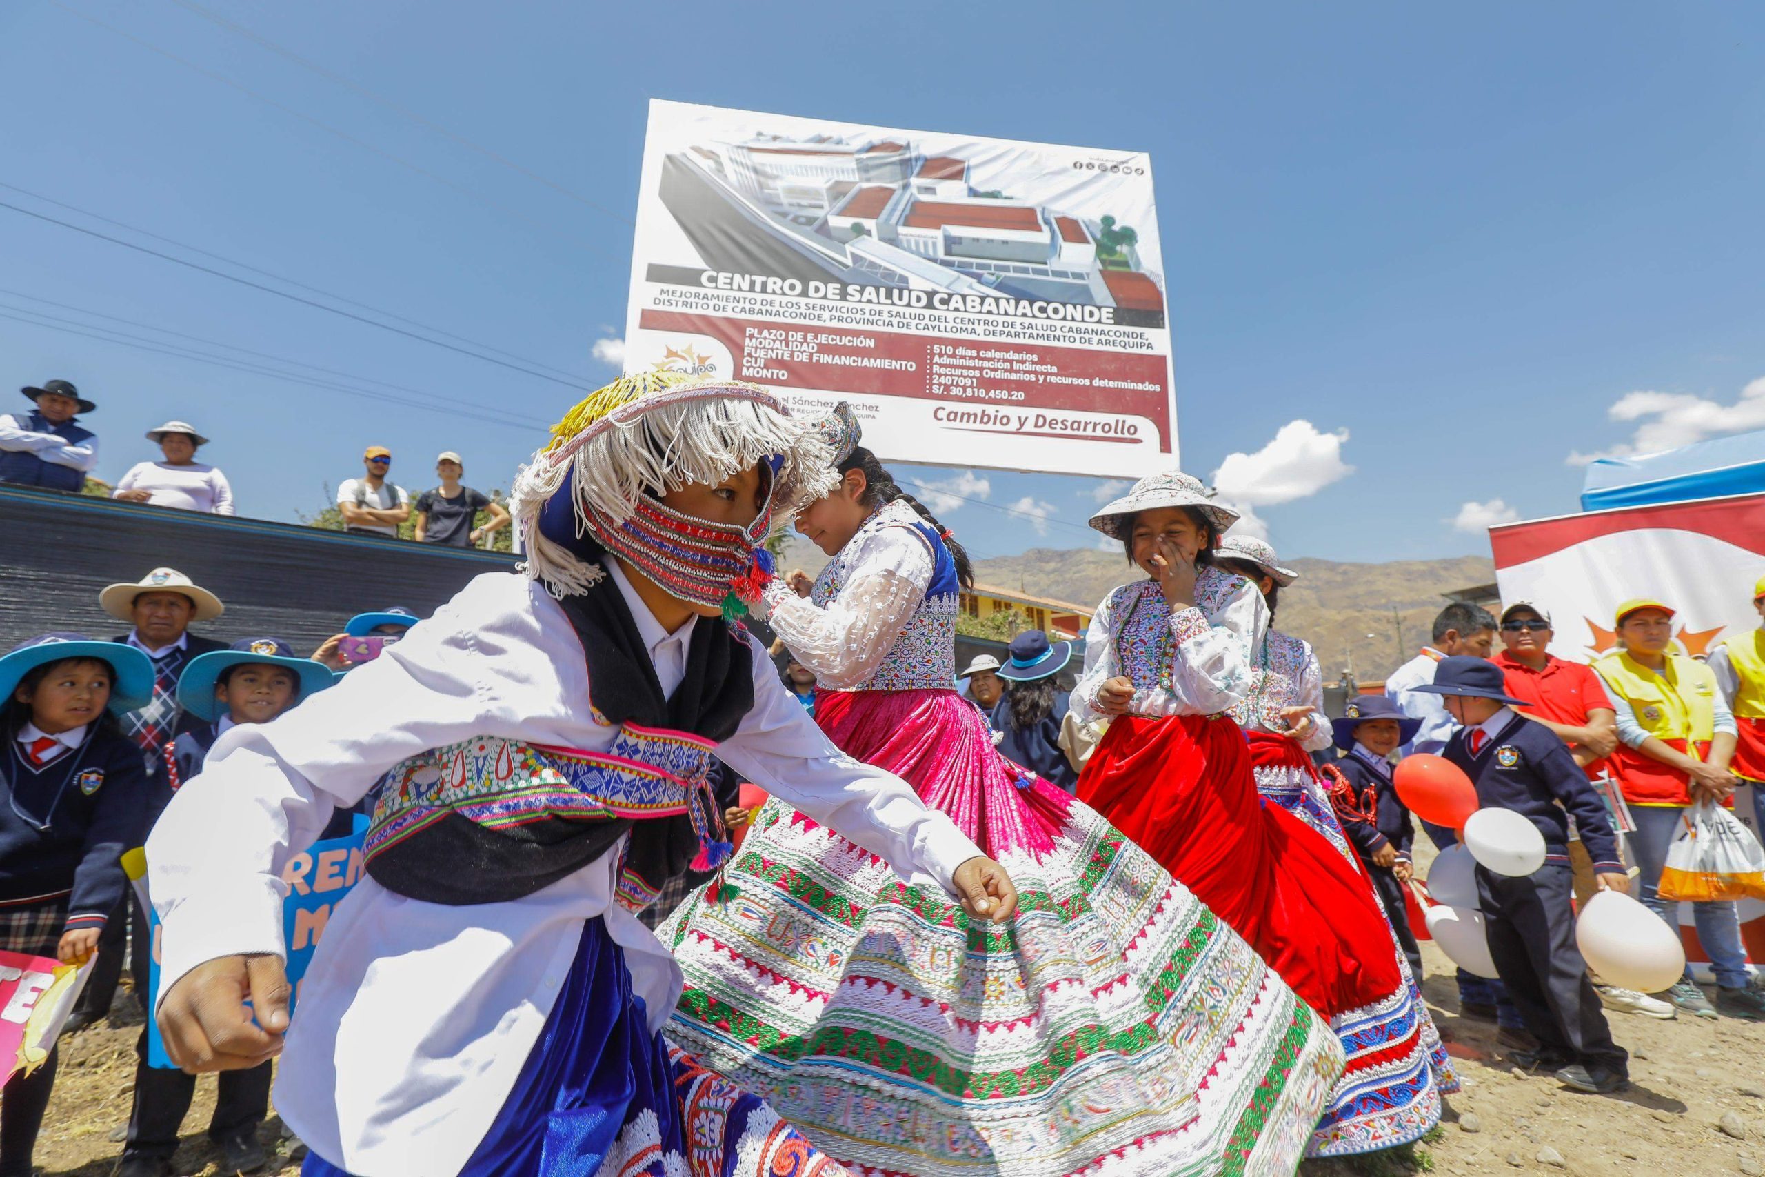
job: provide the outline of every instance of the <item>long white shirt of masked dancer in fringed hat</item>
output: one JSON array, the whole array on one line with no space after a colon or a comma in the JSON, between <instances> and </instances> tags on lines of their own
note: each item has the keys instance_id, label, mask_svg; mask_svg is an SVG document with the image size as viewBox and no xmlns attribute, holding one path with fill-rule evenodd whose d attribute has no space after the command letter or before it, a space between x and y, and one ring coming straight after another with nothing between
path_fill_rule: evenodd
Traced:
<instances>
[{"instance_id":1,"label":"long white shirt of masked dancer in fringed hat","mask_svg":"<svg viewBox=\"0 0 1765 1177\"><path fill-rule=\"evenodd\" d=\"M612 561L607 561L612 563ZM665 692L692 625L665 633L616 570ZM754 649L754 709L717 755L761 789L946 889L980 854L900 778L842 755ZM471 736L600 750L575 630L545 589L475 579L424 625L272 723L221 736L148 838L164 923L162 990L205 960L282 955L282 865L334 805L353 805L401 761ZM226 829L226 838L215 838ZM651 1029L681 974L612 896L620 849L507 903L404 898L364 879L332 912L275 1083L275 1106L314 1152L364 1177L452 1177L508 1096L584 919L625 949Z\"/></svg>"}]
</instances>

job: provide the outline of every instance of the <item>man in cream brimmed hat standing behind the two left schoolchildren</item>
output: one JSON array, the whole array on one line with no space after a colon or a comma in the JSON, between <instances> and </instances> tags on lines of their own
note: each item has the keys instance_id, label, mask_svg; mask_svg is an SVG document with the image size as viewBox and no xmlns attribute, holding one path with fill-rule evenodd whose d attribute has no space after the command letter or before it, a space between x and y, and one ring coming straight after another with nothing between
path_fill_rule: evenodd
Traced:
<instances>
[{"instance_id":1,"label":"man in cream brimmed hat standing behind the two left schoolchildren","mask_svg":"<svg viewBox=\"0 0 1765 1177\"><path fill-rule=\"evenodd\" d=\"M178 706L178 676L185 663L198 655L226 649L226 642L191 633L191 621L208 621L224 611L221 598L208 589L192 584L176 568L154 568L134 584L111 584L99 593L99 605L113 618L131 623L131 630L113 642L134 646L154 662L154 697L146 706L120 716L124 734L141 748L146 762L146 775L155 778L166 771L166 745L171 743L184 723L184 708ZM145 829L141 831L146 833ZM111 999L116 995L116 979L122 976L122 942L131 919L124 909L129 907L127 895L118 911L104 921L99 937L99 958L92 965L92 976L79 995L79 1004L67 1020L65 1029L81 1029L104 1018L109 1013ZM146 919L134 912L136 944L146 944ZM146 993L139 995L146 1001Z\"/></svg>"}]
</instances>

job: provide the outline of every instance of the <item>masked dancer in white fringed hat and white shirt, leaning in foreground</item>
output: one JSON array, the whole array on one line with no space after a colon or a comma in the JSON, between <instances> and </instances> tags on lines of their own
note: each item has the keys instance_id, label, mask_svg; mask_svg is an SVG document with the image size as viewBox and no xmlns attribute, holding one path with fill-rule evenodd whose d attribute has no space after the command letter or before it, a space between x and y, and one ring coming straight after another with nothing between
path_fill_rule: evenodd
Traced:
<instances>
[{"instance_id":1,"label":"masked dancer in white fringed hat and white shirt, leaning in foreground","mask_svg":"<svg viewBox=\"0 0 1765 1177\"><path fill-rule=\"evenodd\" d=\"M319 1177L844 1173L664 1041L680 971L634 914L729 854L713 753L951 911L1017 905L729 623L770 579L773 517L826 484L826 446L750 385L635 376L572 409L515 480L526 575L475 579L332 690L228 731L166 810L146 849L173 1059L281 1050L275 1106ZM281 872L383 775L367 877L289 1027Z\"/></svg>"}]
</instances>

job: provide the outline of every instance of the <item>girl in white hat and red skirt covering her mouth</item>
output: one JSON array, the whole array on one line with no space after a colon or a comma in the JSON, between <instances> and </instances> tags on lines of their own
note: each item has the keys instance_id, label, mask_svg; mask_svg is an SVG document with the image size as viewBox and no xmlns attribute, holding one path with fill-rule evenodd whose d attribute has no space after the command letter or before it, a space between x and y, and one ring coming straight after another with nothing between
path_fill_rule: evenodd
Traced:
<instances>
[{"instance_id":1,"label":"girl in white hat and red skirt covering her mouth","mask_svg":"<svg viewBox=\"0 0 1765 1177\"><path fill-rule=\"evenodd\" d=\"M1348 1069L1311 1138L1313 1156L1419 1138L1440 1119L1426 1013L1366 877L1280 805L1257 794L1234 713L1264 708L1269 607L1220 568L1236 512L1195 478L1142 478L1091 526L1121 540L1145 581L1098 605L1073 709L1108 731L1078 798L1250 941L1326 1015ZM1271 723L1290 725L1273 699Z\"/></svg>"}]
</instances>

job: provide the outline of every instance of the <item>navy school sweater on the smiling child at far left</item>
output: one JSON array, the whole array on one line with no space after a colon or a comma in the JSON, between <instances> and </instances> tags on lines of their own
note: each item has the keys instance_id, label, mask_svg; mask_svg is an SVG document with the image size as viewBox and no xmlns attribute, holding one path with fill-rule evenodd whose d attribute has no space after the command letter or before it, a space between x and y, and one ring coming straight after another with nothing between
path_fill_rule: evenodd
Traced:
<instances>
[{"instance_id":1,"label":"navy school sweater on the smiling child at far left","mask_svg":"<svg viewBox=\"0 0 1765 1177\"><path fill-rule=\"evenodd\" d=\"M69 928L104 926L129 886L122 852L146 831L141 750L94 725L83 745L35 768L14 732L4 738L0 907L67 895Z\"/></svg>"}]
</instances>

